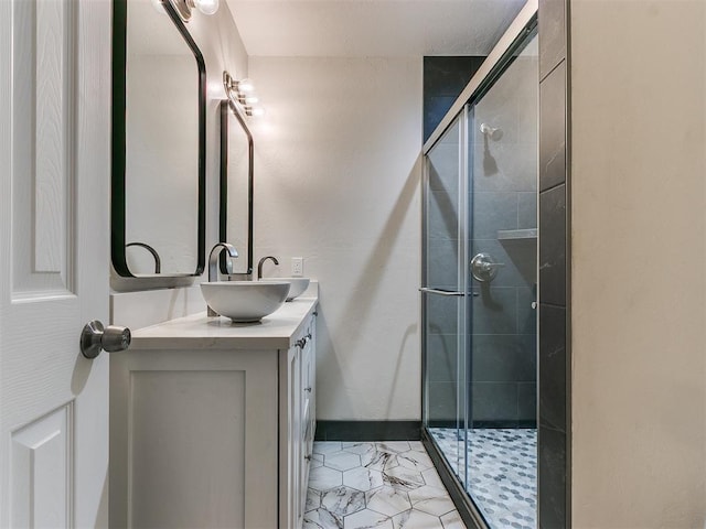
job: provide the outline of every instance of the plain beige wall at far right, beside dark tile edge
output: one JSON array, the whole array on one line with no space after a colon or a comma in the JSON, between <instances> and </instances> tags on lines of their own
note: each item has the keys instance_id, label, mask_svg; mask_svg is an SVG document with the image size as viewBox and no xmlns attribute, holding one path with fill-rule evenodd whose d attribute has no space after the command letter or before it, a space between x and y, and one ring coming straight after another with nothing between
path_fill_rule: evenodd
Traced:
<instances>
[{"instance_id":1,"label":"plain beige wall at far right, beside dark tile edge","mask_svg":"<svg viewBox=\"0 0 706 529\"><path fill-rule=\"evenodd\" d=\"M704 527L705 9L571 1L575 528Z\"/></svg>"}]
</instances>

